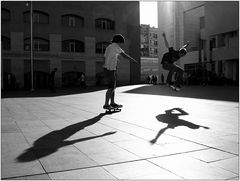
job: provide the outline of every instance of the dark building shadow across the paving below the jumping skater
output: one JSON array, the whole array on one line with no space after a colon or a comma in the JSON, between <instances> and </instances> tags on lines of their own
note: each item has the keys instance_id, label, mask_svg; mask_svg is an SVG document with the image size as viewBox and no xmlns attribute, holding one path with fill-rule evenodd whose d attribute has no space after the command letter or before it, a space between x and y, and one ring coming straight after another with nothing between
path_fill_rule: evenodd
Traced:
<instances>
[{"instance_id":1,"label":"dark building shadow across the paving below the jumping skater","mask_svg":"<svg viewBox=\"0 0 240 181\"><path fill-rule=\"evenodd\" d=\"M181 91L173 91L166 85L143 85L125 93L150 94L174 97L188 97L220 101L239 101L238 86L184 86Z\"/></svg>"}]
</instances>

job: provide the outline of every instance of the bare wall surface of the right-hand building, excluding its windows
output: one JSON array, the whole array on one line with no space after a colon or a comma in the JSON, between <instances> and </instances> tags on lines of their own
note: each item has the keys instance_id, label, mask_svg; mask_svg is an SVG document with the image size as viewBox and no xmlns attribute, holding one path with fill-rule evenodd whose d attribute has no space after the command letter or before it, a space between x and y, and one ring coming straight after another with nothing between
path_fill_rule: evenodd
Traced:
<instances>
[{"instance_id":1,"label":"bare wall surface of the right-hand building, excluding its windows","mask_svg":"<svg viewBox=\"0 0 240 181\"><path fill-rule=\"evenodd\" d=\"M205 18L205 27L200 29L200 17ZM216 62L225 61L224 70L228 77L238 76L239 61L239 34L238 37L229 39L228 47L217 48L210 52L210 36L239 30L239 2L238 1L176 1L158 2L158 27L159 27L159 62L167 51L164 45L162 32L166 32L170 46L181 47L187 40L190 46L196 47L187 56L180 59L179 65L198 63L199 56L202 61ZM203 49L206 60L203 59L203 52L199 53L199 39L204 40ZM192 49L194 50L194 49ZM159 75L167 72L159 64ZM238 80L238 79L236 79Z\"/></svg>"}]
</instances>

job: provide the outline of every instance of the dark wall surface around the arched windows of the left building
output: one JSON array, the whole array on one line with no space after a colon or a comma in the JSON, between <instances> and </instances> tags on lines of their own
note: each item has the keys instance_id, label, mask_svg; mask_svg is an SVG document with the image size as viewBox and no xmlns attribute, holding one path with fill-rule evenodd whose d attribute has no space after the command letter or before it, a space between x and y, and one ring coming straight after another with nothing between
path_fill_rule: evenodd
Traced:
<instances>
[{"instance_id":1,"label":"dark wall surface around the arched windows of the left building","mask_svg":"<svg viewBox=\"0 0 240 181\"><path fill-rule=\"evenodd\" d=\"M2 52L2 59L15 62L14 57L24 62L30 59L30 53L24 51L24 39L30 37L30 23L23 22L23 13L29 11L26 2L4 2L3 8L10 10L11 20L2 24L2 35L11 39L11 50ZM113 35L120 33L125 37L124 50L140 62L140 16L139 2L97 2L97 1L33 1L33 10L49 14L49 24L34 24L33 36L49 40L50 51L34 52L34 59L49 60L52 70L58 68L56 73L57 85L61 86L62 61L84 61L84 70L89 84L95 83L97 62L103 62L103 54L96 54L97 42L110 42ZM84 18L84 27L65 27L61 23L64 14L76 14ZM95 27L95 19L108 18L115 22L114 30L101 30ZM62 40L76 39L84 42L85 52L62 52ZM19 63L19 62L18 62ZM13 74L17 74L17 80L23 86L23 76L20 75L15 63L11 63ZM21 72L24 72L24 63ZM124 84L139 83L140 66L129 63L127 60L119 64L120 81Z\"/></svg>"}]
</instances>

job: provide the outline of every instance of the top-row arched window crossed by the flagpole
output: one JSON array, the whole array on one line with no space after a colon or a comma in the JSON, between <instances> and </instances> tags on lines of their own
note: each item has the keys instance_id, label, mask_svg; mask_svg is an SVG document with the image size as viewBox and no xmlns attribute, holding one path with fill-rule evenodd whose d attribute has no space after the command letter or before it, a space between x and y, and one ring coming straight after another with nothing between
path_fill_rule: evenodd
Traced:
<instances>
[{"instance_id":1,"label":"top-row arched window crossed by the flagpole","mask_svg":"<svg viewBox=\"0 0 240 181\"><path fill-rule=\"evenodd\" d=\"M30 23L30 11L23 13L23 21ZM49 24L49 15L47 13L34 10L33 11L33 23L35 24Z\"/></svg>"}]
</instances>

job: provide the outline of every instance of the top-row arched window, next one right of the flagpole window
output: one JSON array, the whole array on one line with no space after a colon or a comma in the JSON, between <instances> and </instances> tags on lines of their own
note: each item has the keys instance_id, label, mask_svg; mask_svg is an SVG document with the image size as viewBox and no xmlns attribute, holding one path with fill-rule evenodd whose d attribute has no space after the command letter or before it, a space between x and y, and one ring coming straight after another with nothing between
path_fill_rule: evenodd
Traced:
<instances>
[{"instance_id":1,"label":"top-row arched window, next one right of the flagpole window","mask_svg":"<svg viewBox=\"0 0 240 181\"><path fill-rule=\"evenodd\" d=\"M62 15L62 25L68 27L83 27L84 18L73 14Z\"/></svg>"}]
</instances>

